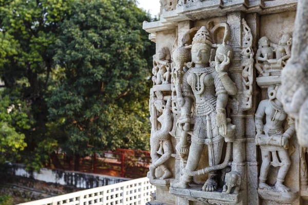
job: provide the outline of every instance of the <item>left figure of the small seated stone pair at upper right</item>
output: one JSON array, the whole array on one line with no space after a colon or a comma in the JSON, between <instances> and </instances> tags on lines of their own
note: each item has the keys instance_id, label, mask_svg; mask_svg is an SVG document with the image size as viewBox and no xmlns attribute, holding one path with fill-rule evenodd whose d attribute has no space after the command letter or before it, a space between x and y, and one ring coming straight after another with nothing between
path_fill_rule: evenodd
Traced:
<instances>
[{"instance_id":1,"label":"left figure of the small seated stone pair at upper right","mask_svg":"<svg viewBox=\"0 0 308 205\"><path fill-rule=\"evenodd\" d=\"M271 42L264 36L259 39L259 48L256 54L257 63L255 67L259 73L259 76L268 76L269 73L265 70L265 65L269 65L268 59L274 58L274 48L271 47Z\"/></svg>"}]
</instances>

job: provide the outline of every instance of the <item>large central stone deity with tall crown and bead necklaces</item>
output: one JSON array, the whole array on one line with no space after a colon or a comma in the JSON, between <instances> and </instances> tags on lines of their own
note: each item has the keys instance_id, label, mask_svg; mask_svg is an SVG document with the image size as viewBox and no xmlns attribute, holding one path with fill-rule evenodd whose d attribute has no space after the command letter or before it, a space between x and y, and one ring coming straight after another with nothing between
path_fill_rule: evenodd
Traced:
<instances>
[{"instance_id":1,"label":"large central stone deity with tall crown and bead necklaces","mask_svg":"<svg viewBox=\"0 0 308 205\"><path fill-rule=\"evenodd\" d=\"M217 47L217 45L215 45ZM191 145L185 170L179 182L172 187L186 189L192 181L187 173L195 171L204 145L208 146L209 166L218 165L221 159L224 137L227 136L226 104L228 93L236 93L233 81L225 72L230 63L232 48L225 43L218 46L215 63L209 64L213 40L206 27L196 33L192 40L191 64L182 79L182 96L184 105L181 108L181 118L177 125L183 132L189 131L194 118L194 130L191 134ZM191 108L194 114L191 116ZM218 188L218 173L210 171L202 190L213 192Z\"/></svg>"}]
</instances>

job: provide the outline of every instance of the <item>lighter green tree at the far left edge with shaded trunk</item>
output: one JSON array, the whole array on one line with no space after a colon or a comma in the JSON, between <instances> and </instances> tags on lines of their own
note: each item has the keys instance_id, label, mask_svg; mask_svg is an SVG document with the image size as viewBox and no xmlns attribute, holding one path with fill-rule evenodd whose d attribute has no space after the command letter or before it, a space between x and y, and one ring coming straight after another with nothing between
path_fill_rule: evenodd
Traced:
<instances>
[{"instance_id":1,"label":"lighter green tree at the far left edge with shaded trunk","mask_svg":"<svg viewBox=\"0 0 308 205\"><path fill-rule=\"evenodd\" d=\"M31 169L39 169L55 145L48 135L46 97L48 86L54 84L50 77L55 67L54 42L71 3L61 0L0 1L0 75L5 84L5 92L1 95L16 98L27 107L27 117L32 123L30 128L21 131L27 144L21 154ZM17 131L16 127L12 128Z\"/></svg>"}]
</instances>

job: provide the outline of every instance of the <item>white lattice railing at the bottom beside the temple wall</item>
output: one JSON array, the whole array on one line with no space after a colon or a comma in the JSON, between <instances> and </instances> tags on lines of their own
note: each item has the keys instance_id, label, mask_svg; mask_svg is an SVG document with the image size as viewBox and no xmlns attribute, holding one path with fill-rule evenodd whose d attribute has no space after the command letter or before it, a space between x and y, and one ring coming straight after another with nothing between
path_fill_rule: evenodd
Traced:
<instances>
[{"instance_id":1,"label":"white lattice railing at the bottom beside the temple wall","mask_svg":"<svg viewBox=\"0 0 308 205\"><path fill-rule=\"evenodd\" d=\"M147 177L114 183L17 205L135 205L145 204L155 192Z\"/></svg>"}]
</instances>

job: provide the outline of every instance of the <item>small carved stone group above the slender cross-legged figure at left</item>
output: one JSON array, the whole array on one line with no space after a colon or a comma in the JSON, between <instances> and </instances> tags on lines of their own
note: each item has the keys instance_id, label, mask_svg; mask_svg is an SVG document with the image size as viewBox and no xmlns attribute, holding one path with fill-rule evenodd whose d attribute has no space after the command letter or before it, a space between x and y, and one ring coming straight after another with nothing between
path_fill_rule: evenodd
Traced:
<instances>
[{"instance_id":1,"label":"small carved stone group above the slender cross-legged figure at left","mask_svg":"<svg viewBox=\"0 0 308 205\"><path fill-rule=\"evenodd\" d=\"M170 50L163 47L158 54L153 56L152 81L153 85L170 84Z\"/></svg>"}]
</instances>

